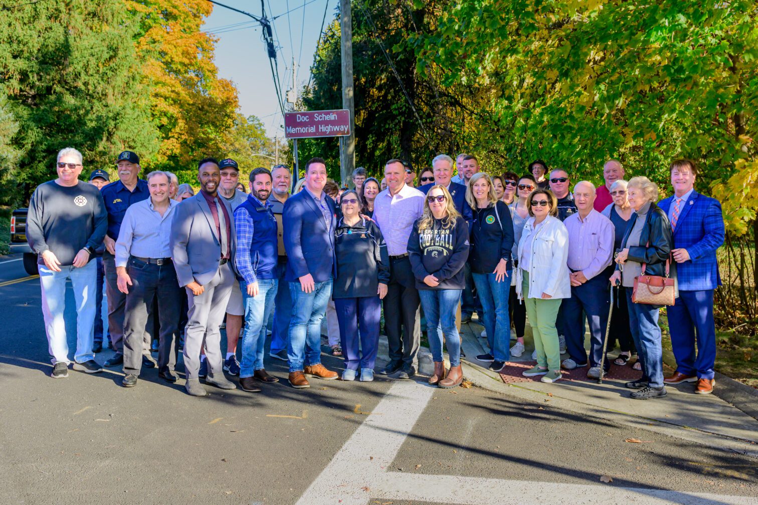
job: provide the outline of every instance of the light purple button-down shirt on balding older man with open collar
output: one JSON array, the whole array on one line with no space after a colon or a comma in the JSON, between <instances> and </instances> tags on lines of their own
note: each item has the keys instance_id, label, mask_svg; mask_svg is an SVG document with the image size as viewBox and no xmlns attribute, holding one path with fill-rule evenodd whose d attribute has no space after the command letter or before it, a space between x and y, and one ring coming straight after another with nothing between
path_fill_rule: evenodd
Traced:
<instances>
[{"instance_id":1,"label":"light purple button-down shirt on balding older man with open collar","mask_svg":"<svg viewBox=\"0 0 758 505\"><path fill-rule=\"evenodd\" d=\"M568 268L587 280L605 270L613 258L613 223L597 210L584 220L572 214L563 222L568 230Z\"/></svg>"}]
</instances>

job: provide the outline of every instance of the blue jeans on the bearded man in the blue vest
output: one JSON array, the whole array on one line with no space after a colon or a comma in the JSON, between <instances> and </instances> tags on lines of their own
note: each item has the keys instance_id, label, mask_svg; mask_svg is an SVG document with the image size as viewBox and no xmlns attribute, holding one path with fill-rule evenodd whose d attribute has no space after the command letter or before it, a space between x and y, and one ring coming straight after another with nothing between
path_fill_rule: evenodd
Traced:
<instances>
[{"instance_id":1,"label":"blue jeans on the bearded man in the blue vest","mask_svg":"<svg viewBox=\"0 0 758 505\"><path fill-rule=\"evenodd\" d=\"M240 379L252 377L255 370L263 369L263 348L266 341L268 316L274 308L278 279L258 279L258 295L247 294L247 282L240 281L245 305L245 329L242 334L242 363Z\"/></svg>"}]
</instances>

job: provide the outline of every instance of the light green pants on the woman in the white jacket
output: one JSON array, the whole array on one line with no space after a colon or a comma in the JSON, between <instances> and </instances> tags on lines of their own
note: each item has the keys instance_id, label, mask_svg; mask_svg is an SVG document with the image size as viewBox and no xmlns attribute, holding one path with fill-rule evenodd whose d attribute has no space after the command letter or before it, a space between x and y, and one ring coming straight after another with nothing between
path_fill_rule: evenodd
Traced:
<instances>
[{"instance_id":1,"label":"light green pants on the woman in the white jacket","mask_svg":"<svg viewBox=\"0 0 758 505\"><path fill-rule=\"evenodd\" d=\"M526 304L526 315L531 326L531 335L534 337L534 348L537 349L537 366L550 370L561 369L561 354L558 345L558 330L556 318L558 309L561 307L561 298L528 298L529 274L522 270L524 282L522 295ZM540 297L542 293L535 293Z\"/></svg>"}]
</instances>

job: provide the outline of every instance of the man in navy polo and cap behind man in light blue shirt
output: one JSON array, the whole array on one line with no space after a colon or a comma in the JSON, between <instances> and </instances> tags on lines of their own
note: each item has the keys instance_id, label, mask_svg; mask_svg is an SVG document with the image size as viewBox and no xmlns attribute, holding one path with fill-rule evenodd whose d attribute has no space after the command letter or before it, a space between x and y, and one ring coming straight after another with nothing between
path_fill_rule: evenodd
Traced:
<instances>
[{"instance_id":1,"label":"man in navy polo and cap behind man in light blue shirt","mask_svg":"<svg viewBox=\"0 0 758 505\"><path fill-rule=\"evenodd\" d=\"M105 366L108 367L124 363L124 307L127 295L118 289L116 240L127 209L138 201L150 198L147 181L139 179L139 170L142 170L139 167L139 157L132 151L122 152L116 160L118 180L101 190L105 210L108 212L108 232L105 233L105 251L102 253L105 295L108 298L108 332L116 351L111 359L105 361Z\"/></svg>"}]
</instances>

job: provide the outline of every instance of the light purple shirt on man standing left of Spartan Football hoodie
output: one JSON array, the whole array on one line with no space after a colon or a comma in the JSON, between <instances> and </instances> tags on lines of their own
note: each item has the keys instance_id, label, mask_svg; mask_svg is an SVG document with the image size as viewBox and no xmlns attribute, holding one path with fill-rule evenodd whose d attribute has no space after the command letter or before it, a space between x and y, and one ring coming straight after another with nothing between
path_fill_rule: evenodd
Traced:
<instances>
[{"instance_id":1,"label":"light purple shirt on man standing left of Spartan Football hoodie","mask_svg":"<svg viewBox=\"0 0 758 505\"><path fill-rule=\"evenodd\" d=\"M384 235L390 256L408 252L413 223L424 214L424 198L424 193L405 184L397 195L385 189L374 200L374 221Z\"/></svg>"}]
</instances>

